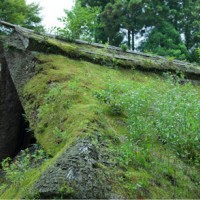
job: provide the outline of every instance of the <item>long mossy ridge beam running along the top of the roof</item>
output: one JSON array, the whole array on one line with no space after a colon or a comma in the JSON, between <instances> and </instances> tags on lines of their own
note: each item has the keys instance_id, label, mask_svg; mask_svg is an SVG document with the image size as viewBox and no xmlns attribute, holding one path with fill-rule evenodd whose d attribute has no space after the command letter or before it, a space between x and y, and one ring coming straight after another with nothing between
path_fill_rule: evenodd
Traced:
<instances>
[{"instance_id":1,"label":"long mossy ridge beam running along the top of the roof","mask_svg":"<svg viewBox=\"0 0 200 200\"><path fill-rule=\"evenodd\" d=\"M153 57L152 55L125 53L108 48L97 48L91 45L64 42L36 34L30 34L28 37L30 38L29 48L34 51L60 54L78 60L83 59L100 65L122 67L125 69L136 68L142 71L157 72L170 70L174 73L176 73L176 70L181 70L189 76L190 73L199 74L199 67L197 65L181 64L167 58L165 59L164 57L160 58Z\"/></svg>"}]
</instances>

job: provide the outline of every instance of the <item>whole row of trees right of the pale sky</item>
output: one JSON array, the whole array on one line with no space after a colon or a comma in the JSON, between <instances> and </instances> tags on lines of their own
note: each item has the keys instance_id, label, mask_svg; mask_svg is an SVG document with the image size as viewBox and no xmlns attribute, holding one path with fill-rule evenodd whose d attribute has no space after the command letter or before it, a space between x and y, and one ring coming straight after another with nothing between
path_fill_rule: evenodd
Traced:
<instances>
[{"instance_id":1,"label":"whole row of trees right of the pale sky","mask_svg":"<svg viewBox=\"0 0 200 200\"><path fill-rule=\"evenodd\" d=\"M132 50L197 61L194 54L200 46L200 0L76 2L63 21L65 30L76 38L87 35L95 42L115 46L126 43ZM74 27L79 34L74 33ZM141 43L138 37L143 39Z\"/></svg>"}]
</instances>

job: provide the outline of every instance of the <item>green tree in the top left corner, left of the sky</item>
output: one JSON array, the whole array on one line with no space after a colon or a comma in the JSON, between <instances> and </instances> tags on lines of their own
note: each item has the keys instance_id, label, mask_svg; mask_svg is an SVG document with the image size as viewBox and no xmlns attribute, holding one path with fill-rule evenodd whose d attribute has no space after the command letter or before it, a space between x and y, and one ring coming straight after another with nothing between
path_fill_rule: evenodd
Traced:
<instances>
[{"instance_id":1,"label":"green tree in the top left corner, left of the sky","mask_svg":"<svg viewBox=\"0 0 200 200\"><path fill-rule=\"evenodd\" d=\"M0 20L31 29L41 28L40 10L38 4L27 5L25 0L1 0Z\"/></svg>"}]
</instances>

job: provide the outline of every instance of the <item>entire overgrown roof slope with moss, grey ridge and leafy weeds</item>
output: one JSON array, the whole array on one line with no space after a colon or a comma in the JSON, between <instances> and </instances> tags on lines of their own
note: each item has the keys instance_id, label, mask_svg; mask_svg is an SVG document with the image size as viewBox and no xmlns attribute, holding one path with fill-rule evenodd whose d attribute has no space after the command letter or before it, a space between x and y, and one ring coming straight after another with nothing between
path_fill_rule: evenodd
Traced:
<instances>
[{"instance_id":1,"label":"entire overgrown roof slope with moss, grey ridge and leafy weeds","mask_svg":"<svg viewBox=\"0 0 200 200\"><path fill-rule=\"evenodd\" d=\"M29 39L20 99L37 145L2 162L0 199L200 198L199 86Z\"/></svg>"}]
</instances>

